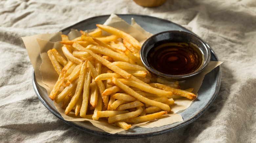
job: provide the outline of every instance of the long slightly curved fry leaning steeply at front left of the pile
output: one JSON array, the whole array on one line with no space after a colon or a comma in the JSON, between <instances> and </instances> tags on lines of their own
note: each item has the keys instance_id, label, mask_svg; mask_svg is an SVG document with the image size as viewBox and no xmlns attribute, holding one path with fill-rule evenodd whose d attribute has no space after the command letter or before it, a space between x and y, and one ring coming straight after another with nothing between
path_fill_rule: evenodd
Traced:
<instances>
[{"instance_id":1,"label":"long slightly curved fry leaning steeply at front left of the pile","mask_svg":"<svg viewBox=\"0 0 256 143\"><path fill-rule=\"evenodd\" d=\"M84 79L85 79L85 73L86 73L86 67L87 67L87 60L82 61L82 66L78 78L78 83L75 89L75 95L72 97L70 103L68 104L68 107L65 110L65 114L68 115L72 108L75 106L77 100L79 99L79 96L82 92L83 86L84 86Z\"/></svg>"}]
</instances>

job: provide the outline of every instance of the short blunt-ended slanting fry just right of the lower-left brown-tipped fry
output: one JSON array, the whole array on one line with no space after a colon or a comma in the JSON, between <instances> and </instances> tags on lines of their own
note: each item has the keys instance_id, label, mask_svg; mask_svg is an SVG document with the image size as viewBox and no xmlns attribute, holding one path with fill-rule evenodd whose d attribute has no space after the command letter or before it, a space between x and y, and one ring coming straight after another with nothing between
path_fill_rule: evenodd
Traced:
<instances>
[{"instance_id":1,"label":"short blunt-ended slanting fry just right of the lower-left brown-tipped fry","mask_svg":"<svg viewBox=\"0 0 256 143\"><path fill-rule=\"evenodd\" d=\"M70 83L67 87L64 88L64 90L61 91L59 95L57 95L54 99L56 103L60 103L62 99L64 99L73 89L76 88L78 79Z\"/></svg>"}]
</instances>

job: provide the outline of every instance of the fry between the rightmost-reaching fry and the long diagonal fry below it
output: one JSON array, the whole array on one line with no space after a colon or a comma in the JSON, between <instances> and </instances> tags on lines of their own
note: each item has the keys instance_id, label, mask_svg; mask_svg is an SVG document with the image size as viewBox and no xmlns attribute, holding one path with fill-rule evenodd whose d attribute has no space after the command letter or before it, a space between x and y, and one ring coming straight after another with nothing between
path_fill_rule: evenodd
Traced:
<instances>
[{"instance_id":1,"label":"fry between the rightmost-reaching fry and the long diagonal fry below it","mask_svg":"<svg viewBox=\"0 0 256 143\"><path fill-rule=\"evenodd\" d=\"M171 96L172 95L171 91L165 91L165 90L161 90L161 89L158 89L158 88L151 87L150 85L140 84L139 82L136 82L136 81L133 81L133 80L119 79L119 81L121 81L123 84L125 84L127 86L137 87L140 90L146 91L146 92L149 92L149 93L158 94L158 95L162 95L162 96L167 96L167 95Z\"/></svg>"}]
</instances>

